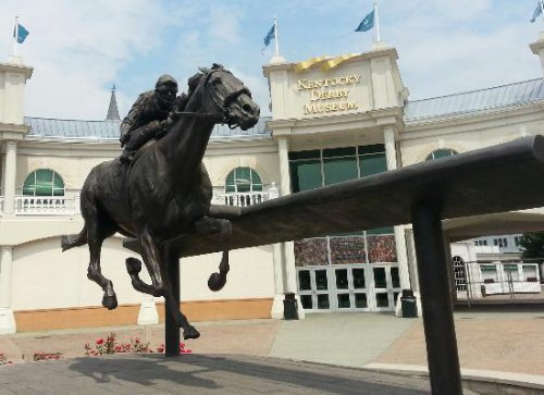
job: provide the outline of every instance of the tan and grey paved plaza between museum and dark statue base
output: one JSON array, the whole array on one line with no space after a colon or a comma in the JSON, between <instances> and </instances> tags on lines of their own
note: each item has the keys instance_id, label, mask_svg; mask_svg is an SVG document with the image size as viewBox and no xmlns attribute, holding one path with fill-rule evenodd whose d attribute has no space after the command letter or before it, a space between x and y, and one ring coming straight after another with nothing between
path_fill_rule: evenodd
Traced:
<instances>
[{"instance_id":1,"label":"tan and grey paved plaza between museum and dark statue base","mask_svg":"<svg viewBox=\"0 0 544 395\"><path fill-rule=\"evenodd\" d=\"M544 383L544 311L461 312L455 314L455 323L461 369L492 371L489 374L498 378L518 373L522 381ZM300 321L195 325L201 337L185 343L199 356L230 355L233 360L244 355L275 357L400 371L426 368L422 320L399 319L392 313L316 313ZM85 343L106 338L111 332L120 342L138 336L152 348L164 342L163 325L21 333L0 336L0 353L15 362L22 361L23 355L24 360L32 360L36 351L60 351L64 359L81 358Z\"/></svg>"}]
</instances>

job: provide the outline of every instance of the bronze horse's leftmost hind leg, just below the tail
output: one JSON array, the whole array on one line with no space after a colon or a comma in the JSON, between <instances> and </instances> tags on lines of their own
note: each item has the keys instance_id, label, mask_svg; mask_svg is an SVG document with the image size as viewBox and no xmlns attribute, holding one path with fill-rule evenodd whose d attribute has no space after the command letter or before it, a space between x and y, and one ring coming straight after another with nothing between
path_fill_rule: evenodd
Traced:
<instances>
[{"instance_id":1,"label":"bronze horse's leftmost hind leg, just below the tail","mask_svg":"<svg viewBox=\"0 0 544 395\"><path fill-rule=\"evenodd\" d=\"M95 283L100 285L103 291L102 306L108 308L108 310L113 310L118 307L118 297L113 291L113 283L111 280L106 279L102 275L100 269L100 252L102 249L102 243L106 238L113 236L115 230L108 224L106 221L100 221L98 215L94 218L86 219L87 224L87 243L89 245L90 262L87 270L87 277L92 280Z\"/></svg>"}]
</instances>

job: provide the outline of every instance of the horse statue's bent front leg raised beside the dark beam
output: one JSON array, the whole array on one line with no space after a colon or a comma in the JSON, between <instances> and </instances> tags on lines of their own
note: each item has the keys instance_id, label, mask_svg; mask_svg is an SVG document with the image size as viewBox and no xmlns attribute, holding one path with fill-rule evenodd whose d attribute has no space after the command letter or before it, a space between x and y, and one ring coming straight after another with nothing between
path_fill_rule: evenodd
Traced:
<instances>
[{"instance_id":1,"label":"horse statue's bent front leg raised beside the dark beam","mask_svg":"<svg viewBox=\"0 0 544 395\"><path fill-rule=\"evenodd\" d=\"M195 223L195 231L200 235L209 235L213 233L220 234L221 247L223 255L219 264L219 273L212 273L208 279L208 287L211 291L220 291L226 283L226 273L231 267L228 266L228 249L231 247L232 225L231 221L203 217Z\"/></svg>"}]
</instances>

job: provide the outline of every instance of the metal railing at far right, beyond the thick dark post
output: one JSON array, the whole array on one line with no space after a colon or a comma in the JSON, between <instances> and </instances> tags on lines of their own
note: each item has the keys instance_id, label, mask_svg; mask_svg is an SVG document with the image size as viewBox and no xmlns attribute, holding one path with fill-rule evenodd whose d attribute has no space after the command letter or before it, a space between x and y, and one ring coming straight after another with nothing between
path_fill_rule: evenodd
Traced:
<instances>
[{"instance_id":1,"label":"metal railing at far right, beyond the thick dark post","mask_svg":"<svg viewBox=\"0 0 544 395\"><path fill-rule=\"evenodd\" d=\"M541 263L529 261L462 262L454 266L458 303L544 303Z\"/></svg>"}]
</instances>

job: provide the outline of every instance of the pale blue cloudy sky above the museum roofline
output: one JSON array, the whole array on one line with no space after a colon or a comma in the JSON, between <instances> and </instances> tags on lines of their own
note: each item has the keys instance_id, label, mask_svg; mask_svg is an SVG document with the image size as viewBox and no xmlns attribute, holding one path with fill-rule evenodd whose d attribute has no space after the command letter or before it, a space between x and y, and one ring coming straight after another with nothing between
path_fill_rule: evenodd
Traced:
<instances>
[{"instance_id":1,"label":"pale blue cloudy sky above the museum roofline","mask_svg":"<svg viewBox=\"0 0 544 395\"><path fill-rule=\"evenodd\" d=\"M382 41L398 51L409 100L542 77L529 44L539 0L380 0ZM0 62L13 52L15 15L29 32L18 45L27 82L25 115L103 120L116 86L121 118L169 73L186 90L198 66L221 63L269 114L261 52L277 17L288 62L366 52L372 32L354 32L373 0L1 0ZM2 34L3 32L3 34Z\"/></svg>"}]
</instances>

